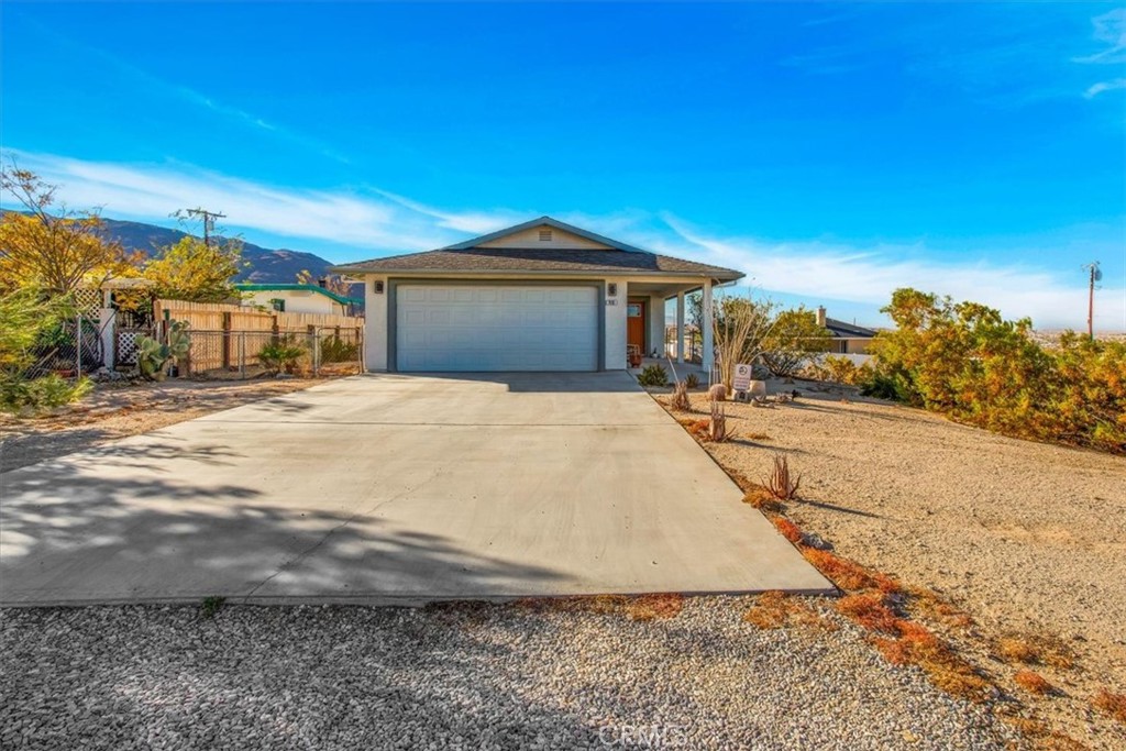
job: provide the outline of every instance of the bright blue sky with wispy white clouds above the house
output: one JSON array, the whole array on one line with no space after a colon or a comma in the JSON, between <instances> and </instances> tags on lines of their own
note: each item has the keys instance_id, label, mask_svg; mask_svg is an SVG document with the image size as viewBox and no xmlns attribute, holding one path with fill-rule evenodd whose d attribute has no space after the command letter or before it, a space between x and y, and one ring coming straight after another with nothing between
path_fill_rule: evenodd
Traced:
<instances>
[{"instance_id":1,"label":"bright blue sky with wispy white clouds above the house","mask_svg":"<svg viewBox=\"0 0 1126 751\"><path fill-rule=\"evenodd\" d=\"M1120 3L2 6L2 147L79 208L333 261L549 214L883 322L1126 330Z\"/></svg>"}]
</instances>

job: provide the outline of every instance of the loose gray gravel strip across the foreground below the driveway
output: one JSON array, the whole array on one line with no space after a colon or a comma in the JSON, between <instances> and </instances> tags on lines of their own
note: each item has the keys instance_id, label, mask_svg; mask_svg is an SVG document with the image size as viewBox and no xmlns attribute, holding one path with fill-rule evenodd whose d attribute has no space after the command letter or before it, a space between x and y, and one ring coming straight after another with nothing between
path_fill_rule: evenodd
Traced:
<instances>
[{"instance_id":1,"label":"loose gray gravel strip across the foreground below the driveway","mask_svg":"<svg viewBox=\"0 0 1126 751\"><path fill-rule=\"evenodd\" d=\"M673 618L464 604L9 609L5 748L992 749L990 710L752 598ZM627 733L623 735L623 732Z\"/></svg>"}]
</instances>

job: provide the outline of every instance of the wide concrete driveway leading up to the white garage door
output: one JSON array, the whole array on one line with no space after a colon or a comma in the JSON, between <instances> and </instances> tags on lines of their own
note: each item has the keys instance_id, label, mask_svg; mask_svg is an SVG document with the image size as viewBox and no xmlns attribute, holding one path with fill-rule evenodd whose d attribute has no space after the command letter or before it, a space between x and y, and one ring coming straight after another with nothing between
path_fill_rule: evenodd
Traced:
<instances>
[{"instance_id":1,"label":"wide concrete driveway leading up to the white garage door","mask_svg":"<svg viewBox=\"0 0 1126 751\"><path fill-rule=\"evenodd\" d=\"M3 605L830 589L624 373L357 376L0 495Z\"/></svg>"}]
</instances>

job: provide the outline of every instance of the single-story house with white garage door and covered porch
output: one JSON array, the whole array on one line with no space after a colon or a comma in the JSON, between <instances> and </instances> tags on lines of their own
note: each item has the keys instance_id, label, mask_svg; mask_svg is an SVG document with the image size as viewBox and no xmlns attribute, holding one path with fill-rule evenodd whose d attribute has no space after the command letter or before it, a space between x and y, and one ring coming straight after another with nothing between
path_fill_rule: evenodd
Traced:
<instances>
[{"instance_id":1,"label":"single-story house with white garage door and covered porch","mask_svg":"<svg viewBox=\"0 0 1126 751\"><path fill-rule=\"evenodd\" d=\"M682 342L685 295L708 303L713 286L743 276L548 216L333 271L364 280L368 369L422 372L624 369L627 343L663 351L668 299ZM704 337L711 368L711 321Z\"/></svg>"}]
</instances>

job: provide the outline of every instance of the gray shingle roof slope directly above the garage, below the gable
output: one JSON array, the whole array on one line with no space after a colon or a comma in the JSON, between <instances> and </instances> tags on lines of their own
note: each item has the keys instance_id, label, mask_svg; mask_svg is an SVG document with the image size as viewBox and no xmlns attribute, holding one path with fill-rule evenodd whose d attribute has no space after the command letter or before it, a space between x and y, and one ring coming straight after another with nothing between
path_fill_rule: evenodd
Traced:
<instances>
[{"instance_id":1,"label":"gray shingle roof slope directly above the garage, below the gable","mask_svg":"<svg viewBox=\"0 0 1126 751\"><path fill-rule=\"evenodd\" d=\"M341 272L432 271L479 274L512 271L528 274L607 272L711 277L724 281L743 274L671 256L626 250L572 250L553 248L466 248L373 258L341 263Z\"/></svg>"}]
</instances>

